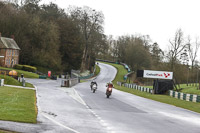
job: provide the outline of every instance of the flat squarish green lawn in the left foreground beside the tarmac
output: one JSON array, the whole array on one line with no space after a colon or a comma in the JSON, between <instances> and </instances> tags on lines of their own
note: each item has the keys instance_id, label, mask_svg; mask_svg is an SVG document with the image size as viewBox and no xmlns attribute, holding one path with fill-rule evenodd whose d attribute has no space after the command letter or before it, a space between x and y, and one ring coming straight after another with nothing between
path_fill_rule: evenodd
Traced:
<instances>
[{"instance_id":1,"label":"flat squarish green lawn in the left foreground beside the tarmac","mask_svg":"<svg viewBox=\"0 0 200 133\"><path fill-rule=\"evenodd\" d=\"M0 120L36 123L34 90L0 87Z\"/></svg>"}]
</instances>

